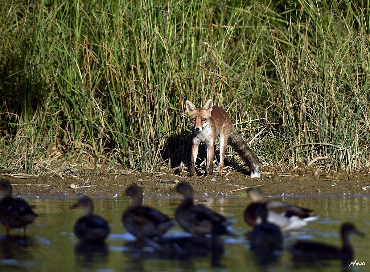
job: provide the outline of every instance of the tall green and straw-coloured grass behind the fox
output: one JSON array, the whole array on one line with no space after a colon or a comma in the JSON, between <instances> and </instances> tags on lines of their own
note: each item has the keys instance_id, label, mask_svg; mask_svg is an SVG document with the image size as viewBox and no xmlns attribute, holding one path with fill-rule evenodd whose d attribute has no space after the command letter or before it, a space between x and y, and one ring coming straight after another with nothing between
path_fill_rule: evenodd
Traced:
<instances>
[{"instance_id":1,"label":"tall green and straw-coloured grass behind the fox","mask_svg":"<svg viewBox=\"0 0 370 272\"><path fill-rule=\"evenodd\" d=\"M186 164L209 98L262 165L369 168L369 3L324 2L2 1L0 171Z\"/></svg>"}]
</instances>

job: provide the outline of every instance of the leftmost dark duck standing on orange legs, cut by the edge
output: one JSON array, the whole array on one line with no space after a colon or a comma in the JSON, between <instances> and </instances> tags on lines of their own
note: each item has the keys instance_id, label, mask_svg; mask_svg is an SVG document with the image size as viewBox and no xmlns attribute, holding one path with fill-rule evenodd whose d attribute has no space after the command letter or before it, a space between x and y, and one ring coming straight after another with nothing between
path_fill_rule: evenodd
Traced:
<instances>
[{"instance_id":1,"label":"leftmost dark duck standing on orange legs, cut by the edge","mask_svg":"<svg viewBox=\"0 0 370 272\"><path fill-rule=\"evenodd\" d=\"M0 201L0 222L6 227L6 234L9 235L10 228L23 227L23 235L26 236L27 224L31 224L37 214L25 200L11 196L12 188L9 180L0 180L0 190L4 193Z\"/></svg>"}]
</instances>

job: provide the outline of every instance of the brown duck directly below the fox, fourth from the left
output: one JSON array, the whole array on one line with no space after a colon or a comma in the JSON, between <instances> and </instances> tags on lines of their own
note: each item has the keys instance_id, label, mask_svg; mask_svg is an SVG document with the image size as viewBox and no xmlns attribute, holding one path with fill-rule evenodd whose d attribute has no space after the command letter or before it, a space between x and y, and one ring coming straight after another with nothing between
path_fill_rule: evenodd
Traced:
<instances>
[{"instance_id":1,"label":"brown duck directly below the fox, fourth from the left","mask_svg":"<svg viewBox=\"0 0 370 272\"><path fill-rule=\"evenodd\" d=\"M228 229L231 223L225 217L203 205L194 204L193 189L188 183L179 183L176 190L184 200L176 209L175 217L186 232L192 235L233 235Z\"/></svg>"}]
</instances>

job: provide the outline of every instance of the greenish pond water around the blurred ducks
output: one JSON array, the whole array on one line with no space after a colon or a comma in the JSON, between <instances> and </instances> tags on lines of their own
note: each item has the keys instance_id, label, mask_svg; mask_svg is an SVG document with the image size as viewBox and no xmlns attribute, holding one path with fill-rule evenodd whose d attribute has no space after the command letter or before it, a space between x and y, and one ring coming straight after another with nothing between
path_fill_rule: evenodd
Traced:
<instances>
[{"instance_id":1,"label":"greenish pond water around the blurred ducks","mask_svg":"<svg viewBox=\"0 0 370 272\"><path fill-rule=\"evenodd\" d=\"M369 197L285 197L274 198L316 211L320 219L285 239L285 245L295 239L315 240L341 245L339 228L345 221L353 222L365 233L351 238L354 259L364 266L351 266L350 271L370 270L370 198ZM251 228L245 223L243 211L250 203L246 197L197 198L202 203L226 215L238 237L223 236L223 253L203 252L191 258L166 258L150 247L132 248L135 238L121 223L122 212L131 202L126 197L93 199L94 213L111 225L105 246L86 247L73 233L74 223L83 215L82 209L70 209L75 199L27 199L35 206L38 217L23 230L11 230L10 237L0 225L0 271L340 271L340 261L295 264L288 251L282 251L275 262L261 266L249 250L245 233ZM144 204L156 207L174 218L181 198L144 198ZM166 237L184 236L176 225ZM198 247L198 246L197 246ZM201 248L202 245L199 245ZM216 259L216 260L215 260ZM215 268L214 265L217 265Z\"/></svg>"}]
</instances>

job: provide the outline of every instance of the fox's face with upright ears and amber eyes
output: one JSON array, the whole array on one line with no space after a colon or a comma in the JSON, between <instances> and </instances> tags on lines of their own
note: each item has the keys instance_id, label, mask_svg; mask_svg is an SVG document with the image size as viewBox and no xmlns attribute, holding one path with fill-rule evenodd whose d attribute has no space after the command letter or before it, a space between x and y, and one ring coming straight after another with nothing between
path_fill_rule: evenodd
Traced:
<instances>
[{"instance_id":1,"label":"fox's face with upright ears and amber eyes","mask_svg":"<svg viewBox=\"0 0 370 272\"><path fill-rule=\"evenodd\" d=\"M193 103L186 100L186 111L189 113L190 122L195 132L201 132L209 124L212 107L212 99L209 99L203 108L196 108Z\"/></svg>"}]
</instances>

